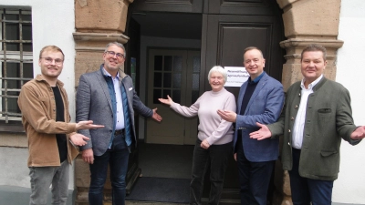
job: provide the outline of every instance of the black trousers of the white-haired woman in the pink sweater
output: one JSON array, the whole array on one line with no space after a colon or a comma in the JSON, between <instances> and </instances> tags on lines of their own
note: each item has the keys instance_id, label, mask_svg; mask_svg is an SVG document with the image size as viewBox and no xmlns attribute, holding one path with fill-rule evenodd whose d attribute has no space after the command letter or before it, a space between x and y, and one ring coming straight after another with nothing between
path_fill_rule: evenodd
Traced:
<instances>
[{"instance_id":1,"label":"black trousers of the white-haired woman in the pink sweater","mask_svg":"<svg viewBox=\"0 0 365 205\"><path fill-rule=\"evenodd\" d=\"M193 150L192 182L190 183L190 204L202 204L203 182L210 165L211 191L208 204L218 204L223 190L224 174L228 158L232 157L232 143L211 145L209 149L200 147L197 140Z\"/></svg>"}]
</instances>

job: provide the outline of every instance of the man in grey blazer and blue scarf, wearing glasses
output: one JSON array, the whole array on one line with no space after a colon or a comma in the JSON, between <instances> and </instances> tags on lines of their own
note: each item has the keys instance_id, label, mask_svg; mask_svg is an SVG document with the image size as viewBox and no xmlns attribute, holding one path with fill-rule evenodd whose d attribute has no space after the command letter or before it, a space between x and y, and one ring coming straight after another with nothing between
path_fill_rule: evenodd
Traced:
<instances>
[{"instance_id":1,"label":"man in grey blazer and blue scarf, wearing glasses","mask_svg":"<svg viewBox=\"0 0 365 205\"><path fill-rule=\"evenodd\" d=\"M110 164L112 204L124 205L126 174L130 145L137 137L134 110L144 117L161 121L157 108L147 108L137 96L131 78L120 67L125 61L125 48L117 42L107 45L104 63L98 71L83 74L79 79L76 98L76 120L93 120L104 128L79 130L89 137L80 147L82 159L89 163L91 181L89 204L103 204L103 188Z\"/></svg>"}]
</instances>

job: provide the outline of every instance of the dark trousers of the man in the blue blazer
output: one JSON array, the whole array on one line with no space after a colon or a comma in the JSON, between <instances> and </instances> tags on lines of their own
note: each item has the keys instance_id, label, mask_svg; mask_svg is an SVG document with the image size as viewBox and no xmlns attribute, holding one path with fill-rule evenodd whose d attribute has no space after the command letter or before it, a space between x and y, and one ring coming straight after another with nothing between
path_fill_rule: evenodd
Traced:
<instances>
[{"instance_id":1,"label":"dark trousers of the man in the blue blazer","mask_svg":"<svg viewBox=\"0 0 365 205\"><path fill-rule=\"evenodd\" d=\"M253 162L245 158L242 143L236 149L242 205L266 205L275 161Z\"/></svg>"}]
</instances>

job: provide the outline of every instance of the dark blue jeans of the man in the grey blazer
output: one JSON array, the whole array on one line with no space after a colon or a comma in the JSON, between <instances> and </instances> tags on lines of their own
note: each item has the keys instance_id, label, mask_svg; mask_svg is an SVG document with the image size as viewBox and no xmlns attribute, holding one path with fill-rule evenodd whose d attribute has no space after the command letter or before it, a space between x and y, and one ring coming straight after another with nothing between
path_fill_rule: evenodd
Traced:
<instances>
[{"instance_id":1,"label":"dark blue jeans of the man in the grey blazer","mask_svg":"<svg viewBox=\"0 0 365 205\"><path fill-rule=\"evenodd\" d=\"M90 164L91 181L89 205L103 204L103 190L110 165L111 196L113 205L124 205L126 195L126 175L130 151L122 134L114 136L111 148L101 156L94 156Z\"/></svg>"}]
</instances>

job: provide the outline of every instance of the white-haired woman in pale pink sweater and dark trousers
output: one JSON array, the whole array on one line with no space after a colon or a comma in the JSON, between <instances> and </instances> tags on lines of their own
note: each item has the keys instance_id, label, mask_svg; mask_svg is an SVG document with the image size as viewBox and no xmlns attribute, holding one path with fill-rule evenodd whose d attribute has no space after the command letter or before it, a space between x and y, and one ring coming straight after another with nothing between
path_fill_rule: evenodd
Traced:
<instances>
[{"instance_id":1,"label":"white-haired woman in pale pink sweater and dark trousers","mask_svg":"<svg viewBox=\"0 0 365 205\"><path fill-rule=\"evenodd\" d=\"M184 117L198 115L198 138L193 150L192 182L190 204L202 204L203 179L210 165L211 192L209 204L218 204L224 184L224 173L228 158L232 156L234 130L232 122L225 121L217 114L218 109L235 112L235 96L224 88L227 73L223 67L212 67L208 74L212 90L206 91L189 108L174 103L172 98L159 98L175 112Z\"/></svg>"}]
</instances>

